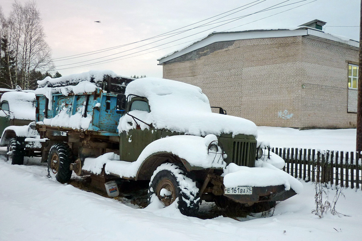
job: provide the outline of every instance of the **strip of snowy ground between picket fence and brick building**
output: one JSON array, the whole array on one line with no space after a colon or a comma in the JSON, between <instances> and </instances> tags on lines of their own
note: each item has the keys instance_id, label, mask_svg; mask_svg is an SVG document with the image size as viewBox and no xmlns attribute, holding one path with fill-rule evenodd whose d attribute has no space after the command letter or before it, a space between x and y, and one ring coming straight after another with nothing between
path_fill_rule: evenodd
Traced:
<instances>
[{"instance_id":1,"label":"strip of snowy ground between picket fence and brick building","mask_svg":"<svg viewBox=\"0 0 362 241\"><path fill-rule=\"evenodd\" d=\"M284 127L258 126L258 140L271 147L295 147L336 151L355 151L356 129L298 130Z\"/></svg>"}]
</instances>

